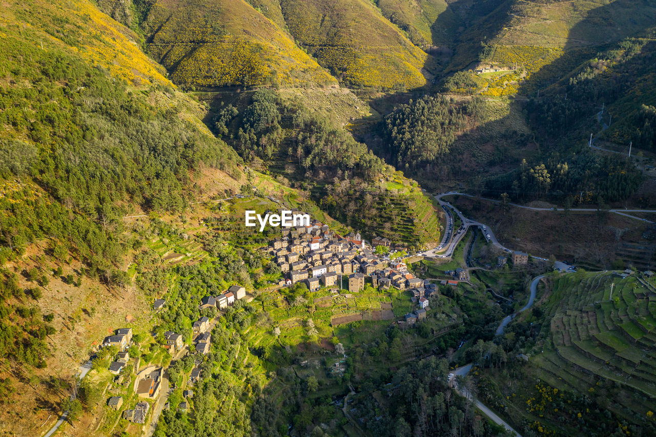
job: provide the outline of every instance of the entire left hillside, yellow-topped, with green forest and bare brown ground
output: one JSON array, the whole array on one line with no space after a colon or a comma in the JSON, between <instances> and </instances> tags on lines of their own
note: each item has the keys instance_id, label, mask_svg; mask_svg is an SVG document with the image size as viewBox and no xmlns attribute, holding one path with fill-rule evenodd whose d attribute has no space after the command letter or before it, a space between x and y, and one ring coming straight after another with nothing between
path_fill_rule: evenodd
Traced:
<instances>
[{"instance_id":1,"label":"entire left hillside, yellow-topped, with green forest and bare brown ground","mask_svg":"<svg viewBox=\"0 0 656 437\"><path fill-rule=\"evenodd\" d=\"M91 3L1 11L0 375L3 402L20 404L2 422L34 435L35 415L59 411L92 341L142 312L123 216L184 211L201 169L238 187L241 159L136 35ZM130 303L116 308L113 290Z\"/></svg>"}]
</instances>

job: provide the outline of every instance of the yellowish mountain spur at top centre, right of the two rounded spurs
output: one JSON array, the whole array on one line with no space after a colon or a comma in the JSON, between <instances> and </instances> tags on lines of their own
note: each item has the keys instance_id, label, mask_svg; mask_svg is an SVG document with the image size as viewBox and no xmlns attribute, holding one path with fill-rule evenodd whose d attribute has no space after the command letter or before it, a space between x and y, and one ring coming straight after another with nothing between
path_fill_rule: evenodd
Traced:
<instances>
[{"instance_id":1,"label":"yellowish mountain spur at top centre, right of the two rounded spurs","mask_svg":"<svg viewBox=\"0 0 656 437\"><path fill-rule=\"evenodd\" d=\"M354 87L414 88L425 52L413 45L369 1L282 0L283 16L297 43Z\"/></svg>"}]
</instances>

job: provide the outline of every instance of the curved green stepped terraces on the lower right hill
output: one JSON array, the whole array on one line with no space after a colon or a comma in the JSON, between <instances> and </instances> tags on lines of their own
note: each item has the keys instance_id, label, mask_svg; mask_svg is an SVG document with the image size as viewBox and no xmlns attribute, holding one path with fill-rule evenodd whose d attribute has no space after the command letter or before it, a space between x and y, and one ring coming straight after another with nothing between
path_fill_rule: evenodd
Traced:
<instances>
[{"instance_id":1,"label":"curved green stepped terraces on the lower right hill","mask_svg":"<svg viewBox=\"0 0 656 437\"><path fill-rule=\"evenodd\" d=\"M612 297L611 297L611 287ZM531 360L556 386L594 391L613 381L618 407L656 407L656 289L642 274L569 274L549 297L554 351ZM636 403L635 399L641 399Z\"/></svg>"}]
</instances>

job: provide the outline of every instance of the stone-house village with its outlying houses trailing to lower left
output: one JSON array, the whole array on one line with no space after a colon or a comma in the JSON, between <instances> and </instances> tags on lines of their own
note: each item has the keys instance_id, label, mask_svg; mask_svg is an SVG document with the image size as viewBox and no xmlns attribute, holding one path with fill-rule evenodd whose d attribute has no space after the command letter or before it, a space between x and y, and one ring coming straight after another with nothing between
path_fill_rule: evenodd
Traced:
<instances>
[{"instance_id":1,"label":"stone-house village with its outlying houses trailing to lower left","mask_svg":"<svg viewBox=\"0 0 656 437\"><path fill-rule=\"evenodd\" d=\"M297 212L298 209L293 211ZM171 356L169 369L150 366L138 371L136 379L133 380L126 376L124 371L130 363L129 350L133 344L133 330L130 327L117 329L113 335L104 339L100 351L105 351L103 356L107 354L106 351L110 351L115 358L109 365L110 373L115 375L113 385L108 390L109 394L113 395L107 400L109 407L119 412L123 419L134 424L146 424L146 427L148 424L155 427L163 410L186 411L194 396L194 383L204 376L200 364L202 356L211 352L212 330L220 317L237 302L251 302L258 296L262 301L262 308L264 301L269 304L278 302L278 306L279 302L284 302L283 308L298 307L306 303L306 299L302 296L295 299L285 297L284 291L298 290L300 287L312 295L313 299L309 304L313 304L314 308L314 315L309 322L300 323L301 329L335 339L335 328L351 322L388 321L402 329L420 324L430 311L429 299L438 296L438 284L449 287L457 286L461 281L468 281L467 272L462 268L445 272L447 275L440 281L417 278L403 262L407 253L402 247L395 248L390 239L374 237L371 242L367 242L359 232L340 236L327 224L315 219L310 220L310 224L306 226L282 227L276 235L268 246L260 247L259 250L264 257L279 267L281 275L277 283L258 291L258 294L251 291L247 293L242 285L232 285L224 293L202 297L198 302L198 309L205 310L203 314L216 316L201 316L190 321L193 329L191 342L185 341L186 336L182 332L165 331L162 334L161 347ZM167 301L164 299L155 299L153 310L155 313L160 312L166 305ZM209 310L212 312L207 312ZM323 314L325 310L328 315L322 325L319 314ZM270 311L270 314L274 316L275 311ZM289 314L289 308L286 311ZM440 316L445 326L461 323L457 314L449 314L448 318L445 314ZM276 337L281 335L281 328L284 331L283 336L293 335L293 329L298 329L298 323L279 323L274 329ZM325 371L329 375L342 376L346 371L344 346L339 343L335 350L338 356L329 360ZM183 399L171 405L169 395L174 386L169 384L167 373L176 361L190 355L195 357L194 366L183 383ZM305 360L301 366L311 363L312 360ZM138 369L138 362L134 368ZM85 371L83 376L84 374ZM126 388L132 390L139 399L136 405L130 408L124 406L123 396ZM121 393L123 396L120 396ZM148 417L149 415L151 417Z\"/></svg>"}]
</instances>

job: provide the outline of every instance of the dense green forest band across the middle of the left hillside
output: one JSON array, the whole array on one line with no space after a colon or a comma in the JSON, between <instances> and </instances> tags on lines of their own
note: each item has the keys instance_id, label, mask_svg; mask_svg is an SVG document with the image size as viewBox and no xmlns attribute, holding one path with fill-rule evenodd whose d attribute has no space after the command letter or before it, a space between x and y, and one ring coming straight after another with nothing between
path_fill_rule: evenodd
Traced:
<instances>
[{"instance_id":1,"label":"dense green forest band across the middle of the left hillside","mask_svg":"<svg viewBox=\"0 0 656 437\"><path fill-rule=\"evenodd\" d=\"M32 62L16 61L28 55ZM173 89L131 91L101 67L16 39L7 39L4 59L5 73L31 87L0 88L0 122L12 129L0 144L3 259L51 237L92 268L115 262L119 202L182 211L184 186L201 162L237 175L236 154L190 129L182 108L147 102Z\"/></svg>"}]
</instances>

